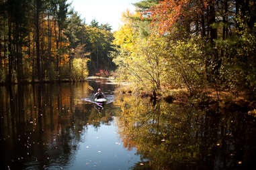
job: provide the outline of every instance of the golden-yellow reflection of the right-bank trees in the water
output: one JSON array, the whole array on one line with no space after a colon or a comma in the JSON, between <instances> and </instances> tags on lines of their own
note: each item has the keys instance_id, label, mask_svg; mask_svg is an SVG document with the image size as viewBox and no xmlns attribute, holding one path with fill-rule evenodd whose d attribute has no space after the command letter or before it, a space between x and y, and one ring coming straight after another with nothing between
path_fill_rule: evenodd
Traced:
<instances>
[{"instance_id":1,"label":"golden-yellow reflection of the right-bank trees in the water","mask_svg":"<svg viewBox=\"0 0 256 170\"><path fill-rule=\"evenodd\" d=\"M121 100L118 100L120 102ZM204 110L130 98L117 124L124 147L147 163L134 169L248 169L255 158L255 118L216 106Z\"/></svg>"}]
</instances>

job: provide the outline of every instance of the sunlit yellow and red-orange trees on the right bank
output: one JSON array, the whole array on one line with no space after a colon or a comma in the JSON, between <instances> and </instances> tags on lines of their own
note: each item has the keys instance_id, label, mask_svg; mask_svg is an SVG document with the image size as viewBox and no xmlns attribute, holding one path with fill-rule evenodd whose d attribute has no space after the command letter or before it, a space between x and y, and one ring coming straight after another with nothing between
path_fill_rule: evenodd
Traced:
<instances>
[{"instance_id":1,"label":"sunlit yellow and red-orange trees on the right bank","mask_svg":"<svg viewBox=\"0 0 256 170\"><path fill-rule=\"evenodd\" d=\"M256 90L256 4L252 0L139 1L124 13L112 53L132 91L191 96L210 90L251 100Z\"/></svg>"}]
</instances>

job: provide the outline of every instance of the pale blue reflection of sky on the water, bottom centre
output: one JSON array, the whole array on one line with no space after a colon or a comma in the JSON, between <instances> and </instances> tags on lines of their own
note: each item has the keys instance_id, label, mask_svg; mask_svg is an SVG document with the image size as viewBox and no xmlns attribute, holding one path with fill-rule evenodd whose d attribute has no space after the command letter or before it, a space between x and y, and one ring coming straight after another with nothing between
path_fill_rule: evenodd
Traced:
<instances>
[{"instance_id":1,"label":"pale blue reflection of sky on the water, bottom centre","mask_svg":"<svg viewBox=\"0 0 256 170\"><path fill-rule=\"evenodd\" d=\"M75 160L67 169L129 169L140 161L139 155L134 155L136 149L124 149L114 122L110 126L101 124L97 131L92 125L87 128L82 132Z\"/></svg>"}]
</instances>

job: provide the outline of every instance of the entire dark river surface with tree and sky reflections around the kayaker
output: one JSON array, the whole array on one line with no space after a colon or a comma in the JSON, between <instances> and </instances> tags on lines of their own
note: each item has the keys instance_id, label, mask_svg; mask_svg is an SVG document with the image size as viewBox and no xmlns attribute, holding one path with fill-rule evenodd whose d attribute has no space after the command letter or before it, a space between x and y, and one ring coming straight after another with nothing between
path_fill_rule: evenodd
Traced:
<instances>
[{"instance_id":1,"label":"entire dark river surface with tree and sky reflections around the kayaker","mask_svg":"<svg viewBox=\"0 0 256 170\"><path fill-rule=\"evenodd\" d=\"M81 100L89 86L112 102L102 110ZM254 116L115 88L106 80L0 87L1 169L256 169Z\"/></svg>"}]
</instances>

